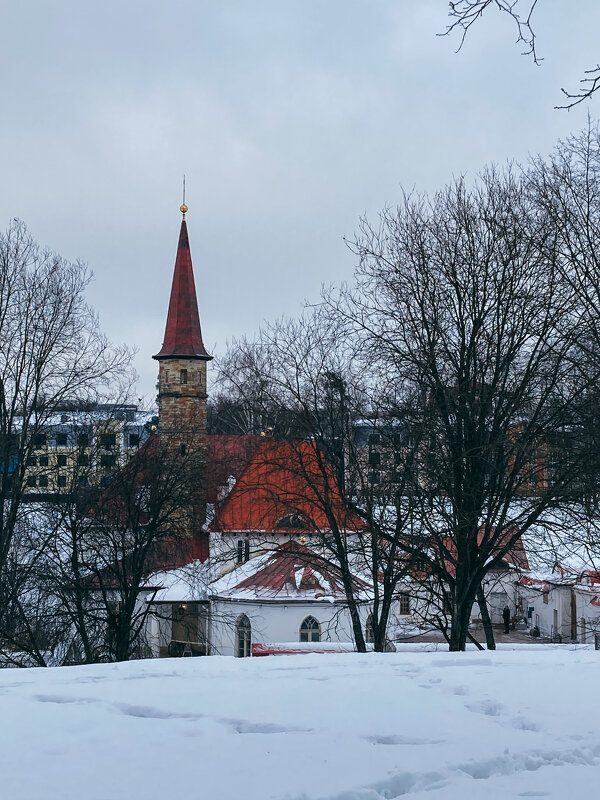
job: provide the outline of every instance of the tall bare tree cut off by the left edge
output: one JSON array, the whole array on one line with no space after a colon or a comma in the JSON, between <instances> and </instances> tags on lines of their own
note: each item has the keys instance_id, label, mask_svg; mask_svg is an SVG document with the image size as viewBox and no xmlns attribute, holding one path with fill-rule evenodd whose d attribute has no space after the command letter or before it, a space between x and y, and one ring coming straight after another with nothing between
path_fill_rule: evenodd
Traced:
<instances>
[{"instance_id":1,"label":"tall bare tree cut off by the left edge","mask_svg":"<svg viewBox=\"0 0 600 800\"><path fill-rule=\"evenodd\" d=\"M113 347L87 305L91 273L41 249L22 222L0 235L0 580L25 490L27 461L65 400L128 382L131 353Z\"/></svg>"}]
</instances>

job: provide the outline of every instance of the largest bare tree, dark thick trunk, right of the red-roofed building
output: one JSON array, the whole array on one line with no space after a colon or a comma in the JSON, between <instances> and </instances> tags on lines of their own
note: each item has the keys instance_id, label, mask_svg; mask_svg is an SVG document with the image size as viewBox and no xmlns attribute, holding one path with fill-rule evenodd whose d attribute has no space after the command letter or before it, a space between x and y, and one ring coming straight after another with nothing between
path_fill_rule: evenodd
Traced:
<instances>
[{"instance_id":1,"label":"largest bare tree, dark thick trunk, right of the red-roofed building","mask_svg":"<svg viewBox=\"0 0 600 800\"><path fill-rule=\"evenodd\" d=\"M488 572L534 524L553 524L590 457L578 424L597 368L578 360L582 310L556 231L511 170L405 198L354 242L357 288L328 298L427 431L421 553L450 589L461 650ZM569 452L551 466L556 450Z\"/></svg>"}]
</instances>

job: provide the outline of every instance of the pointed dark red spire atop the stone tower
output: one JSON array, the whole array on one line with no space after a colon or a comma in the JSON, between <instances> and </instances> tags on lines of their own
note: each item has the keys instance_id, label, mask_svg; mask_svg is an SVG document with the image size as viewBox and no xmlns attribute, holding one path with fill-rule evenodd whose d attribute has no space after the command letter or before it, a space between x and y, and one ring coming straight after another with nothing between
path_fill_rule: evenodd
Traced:
<instances>
[{"instance_id":1,"label":"pointed dark red spire atop the stone tower","mask_svg":"<svg viewBox=\"0 0 600 800\"><path fill-rule=\"evenodd\" d=\"M181 210L184 208L185 206L182 206ZM187 211L187 208L185 210ZM165 338L160 352L152 356L158 361L177 357L199 358L203 361L212 359L202 342L185 212L179 233Z\"/></svg>"}]
</instances>

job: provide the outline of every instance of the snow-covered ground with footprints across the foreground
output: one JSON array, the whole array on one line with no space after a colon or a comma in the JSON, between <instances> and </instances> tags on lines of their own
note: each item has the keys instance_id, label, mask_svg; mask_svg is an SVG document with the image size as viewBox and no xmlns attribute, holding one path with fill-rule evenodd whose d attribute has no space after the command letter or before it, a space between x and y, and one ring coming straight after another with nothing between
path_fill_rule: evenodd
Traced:
<instances>
[{"instance_id":1,"label":"snow-covered ground with footprints across the foreground","mask_svg":"<svg viewBox=\"0 0 600 800\"><path fill-rule=\"evenodd\" d=\"M0 797L592 797L600 652L517 646L0 671Z\"/></svg>"}]
</instances>

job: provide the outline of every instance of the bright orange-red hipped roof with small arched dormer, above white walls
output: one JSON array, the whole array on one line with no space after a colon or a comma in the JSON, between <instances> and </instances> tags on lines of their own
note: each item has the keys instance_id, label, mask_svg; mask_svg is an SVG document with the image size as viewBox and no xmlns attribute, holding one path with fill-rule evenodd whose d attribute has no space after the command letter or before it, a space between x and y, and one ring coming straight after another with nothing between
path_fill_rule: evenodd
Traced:
<instances>
[{"instance_id":1,"label":"bright orange-red hipped roof with small arched dormer, above white walls","mask_svg":"<svg viewBox=\"0 0 600 800\"><path fill-rule=\"evenodd\" d=\"M263 438L217 509L211 529L281 533L330 530L325 508L332 510L340 530L364 530L363 521L344 505L335 474L316 442ZM282 526L282 518L290 515L300 516L304 524Z\"/></svg>"}]
</instances>

